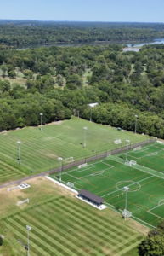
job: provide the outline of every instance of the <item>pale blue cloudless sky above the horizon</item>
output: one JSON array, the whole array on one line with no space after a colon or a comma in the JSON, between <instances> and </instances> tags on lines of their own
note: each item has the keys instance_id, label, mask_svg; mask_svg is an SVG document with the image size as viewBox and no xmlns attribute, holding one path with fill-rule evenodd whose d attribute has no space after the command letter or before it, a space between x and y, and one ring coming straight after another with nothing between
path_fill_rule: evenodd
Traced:
<instances>
[{"instance_id":1,"label":"pale blue cloudless sky above the horizon","mask_svg":"<svg viewBox=\"0 0 164 256\"><path fill-rule=\"evenodd\" d=\"M0 19L164 22L164 0L1 0Z\"/></svg>"}]
</instances>

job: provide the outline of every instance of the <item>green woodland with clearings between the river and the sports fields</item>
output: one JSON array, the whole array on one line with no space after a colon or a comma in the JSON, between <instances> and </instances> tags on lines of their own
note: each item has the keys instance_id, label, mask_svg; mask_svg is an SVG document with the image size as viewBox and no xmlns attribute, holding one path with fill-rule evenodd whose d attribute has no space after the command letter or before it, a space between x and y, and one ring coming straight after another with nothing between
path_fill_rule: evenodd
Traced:
<instances>
[{"instance_id":1,"label":"green woodland with clearings between the river and the sports fields","mask_svg":"<svg viewBox=\"0 0 164 256\"><path fill-rule=\"evenodd\" d=\"M164 45L123 52L117 44L0 50L0 131L70 119L164 138ZM18 83L22 73L25 86ZM84 83L85 80L85 83ZM22 85L22 86L21 86Z\"/></svg>"}]
</instances>

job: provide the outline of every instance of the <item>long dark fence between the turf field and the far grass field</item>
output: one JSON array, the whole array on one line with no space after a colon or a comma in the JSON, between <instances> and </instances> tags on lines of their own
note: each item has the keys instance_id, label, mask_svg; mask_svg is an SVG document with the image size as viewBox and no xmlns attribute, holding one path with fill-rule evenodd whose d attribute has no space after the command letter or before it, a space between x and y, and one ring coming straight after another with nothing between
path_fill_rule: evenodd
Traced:
<instances>
[{"instance_id":1,"label":"long dark fence between the turf field and the far grass field","mask_svg":"<svg viewBox=\"0 0 164 256\"><path fill-rule=\"evenodd\" d=\"M156 139L149 139L147 141L138 142L138 143L135 143L135 144L130 143L130 145L128 146L128 149L136 148L136 147L139 147L139 146L144 146L144 145L149 144L149 143L154 143L155 141L156 141ZM62 166L62 171L65 171L65 170L70 169L72 167L80 166L80 165L88 163L88 162L92 162L93 160L99 160L99 159L104 158L108 155L122 153L126 150L127 150L127 146L124 146L124 147L121 146L120 148L111 149L110 151L106 150L104 153L101 153L101 154L96 153L96 155L94 155L92 157L88 157L88 158L85 157L85 159L83 159L83 160L77 160L77 161L75 161L71 164ZM55 168L53 170L50 170L49 174L53 174L53 173L56 173L56 172L59 172L59 171L60 171L60 167Z\"/></svg>"}]
</instances>

